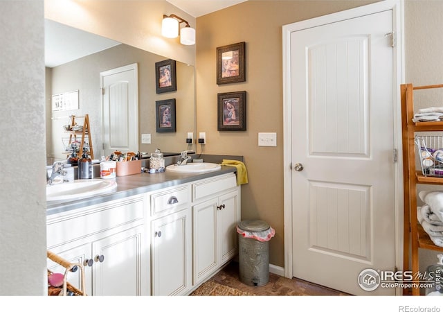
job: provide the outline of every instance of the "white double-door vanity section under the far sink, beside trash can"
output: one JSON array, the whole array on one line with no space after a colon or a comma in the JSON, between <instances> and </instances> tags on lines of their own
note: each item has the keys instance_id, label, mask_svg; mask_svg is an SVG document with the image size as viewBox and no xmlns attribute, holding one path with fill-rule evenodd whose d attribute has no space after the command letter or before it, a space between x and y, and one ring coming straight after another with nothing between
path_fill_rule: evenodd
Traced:
<instances>
[{"instance_id":1,"label":"white double-door vanity section under the far sink, beside trash can","mask_svg":"<svg viewBox=\"0 0 443 312\"><path fill-rule=\"evenodd\" d=\"M237 254L240 188L235 174L192 184L193 283L199 284Z\"/></svg>"}]
</instances>

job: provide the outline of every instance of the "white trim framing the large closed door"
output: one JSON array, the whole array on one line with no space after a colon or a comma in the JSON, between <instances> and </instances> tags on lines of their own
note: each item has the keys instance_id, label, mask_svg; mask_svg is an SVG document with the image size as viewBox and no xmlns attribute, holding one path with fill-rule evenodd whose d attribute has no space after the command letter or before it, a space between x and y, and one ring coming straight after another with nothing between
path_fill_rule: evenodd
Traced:
<instances>
[{"instance_id":1,"label":"white trim framing the large closed door","mask_svg":"<svg viewBox=\"0 0 443 312\"><path fill-rule=\"evenodd\" d=\"M283 36L283 182L284 182L284 276L292 278L292 170L291 170L291 32L330 24L372 13L392 10L392 29L397 38L395 49L394 74L395 98L392 99L394 111L394 146L401 155L401 101L400 85L404 83L404 0L386 0L367 6L336 12L334 14L299 21L282 27ZM393 152L393 151L392 151ZM403 177L401 157L395 163L395 266L403 267Z\"/></svg>"}]
</instances>

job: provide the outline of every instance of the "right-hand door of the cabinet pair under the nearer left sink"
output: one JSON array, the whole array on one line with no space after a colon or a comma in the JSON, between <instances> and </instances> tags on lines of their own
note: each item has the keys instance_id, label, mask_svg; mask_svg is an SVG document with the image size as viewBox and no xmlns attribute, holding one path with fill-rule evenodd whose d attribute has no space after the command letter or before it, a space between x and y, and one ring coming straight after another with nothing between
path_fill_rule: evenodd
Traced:
<instances>
[{"instance_id":1,"label":"right-hand door of the cabinet pair under the nearer left sink","mask_svg":"<svg viewBox=\"0 0 443 312\"><path fill-rule=\"evenodd\" d=\"M143 229L139 225L92 243L93 295L149 295Z\"/></svg>"}]
</instances>

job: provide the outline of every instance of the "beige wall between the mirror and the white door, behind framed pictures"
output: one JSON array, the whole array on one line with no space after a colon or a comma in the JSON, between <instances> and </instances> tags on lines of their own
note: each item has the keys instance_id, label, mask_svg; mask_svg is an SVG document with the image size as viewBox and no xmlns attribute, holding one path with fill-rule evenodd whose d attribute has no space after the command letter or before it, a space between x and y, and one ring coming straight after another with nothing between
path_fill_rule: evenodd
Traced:
<instances>
[{"instance_id":1,"label":"beige wall between the mirror and the white door, behind framed pictures","mask_svg":"<svg viewBox=\"0 0 443 312\"><path fill-rule=\"evenodd\" d=\"M282 26L376 1L246 1L197 18L197 132L204 153L243 155L249 183L242 218L275 229L270 263L284 266ZM216 83L216 48L246 42L246 82ZM217 94L247 92L244 132L217 131ZM277 132L277 147L257 146L258 132Z\"/></svg>"}]
</instances>

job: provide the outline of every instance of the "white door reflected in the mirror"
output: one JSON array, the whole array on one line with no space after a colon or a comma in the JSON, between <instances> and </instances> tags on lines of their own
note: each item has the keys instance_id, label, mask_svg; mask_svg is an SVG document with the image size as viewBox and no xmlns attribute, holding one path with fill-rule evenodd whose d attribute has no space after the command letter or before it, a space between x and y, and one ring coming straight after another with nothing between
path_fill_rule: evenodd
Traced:
<instances>
[{"instance_id":1,"label":"white door reflected in the mirror","mask_svg":"<svg viewBox=\"0 0 443 312\"><path fill-rule=\"evenodd\" d=\"M103 150L138 153L138 67L130 64L100 73Z\"/></svg>"}]
</instances>

